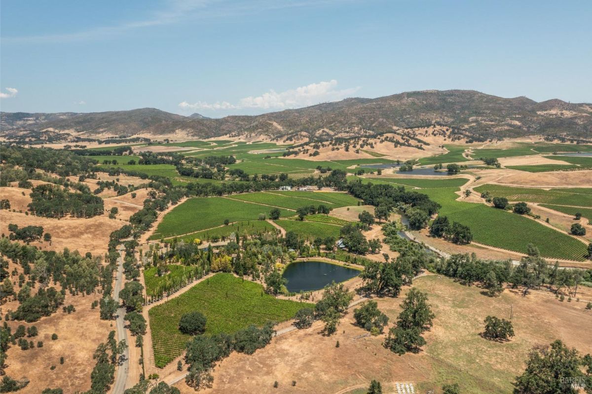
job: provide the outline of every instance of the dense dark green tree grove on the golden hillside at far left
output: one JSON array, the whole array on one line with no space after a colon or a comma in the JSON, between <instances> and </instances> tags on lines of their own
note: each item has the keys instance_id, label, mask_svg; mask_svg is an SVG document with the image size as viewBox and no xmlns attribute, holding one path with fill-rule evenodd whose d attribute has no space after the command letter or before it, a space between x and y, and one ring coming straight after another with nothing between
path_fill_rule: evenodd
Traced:
<instances>
[{"instance_id":1,"label":"dense dark green tree grove on the golden hillside at far left","mask_svg":"<svg viewBox=\"0 0 592 394\"><path fill-rule=\"evenodd\" d=\"M57 185L38 185L31 193L28 205L37 216L62 218L70 214L76 218L92 218L104 213L102 198L91 193L73 193Z\"/></svg>"}]
</instances>

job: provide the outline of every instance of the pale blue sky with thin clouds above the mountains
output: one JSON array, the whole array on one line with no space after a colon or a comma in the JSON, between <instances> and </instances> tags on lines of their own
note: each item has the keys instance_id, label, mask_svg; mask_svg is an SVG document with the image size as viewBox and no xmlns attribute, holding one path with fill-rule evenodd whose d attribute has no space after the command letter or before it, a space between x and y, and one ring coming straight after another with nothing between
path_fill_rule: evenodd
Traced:
<instances>
[{"instance_id":1,"label":"pale blue sky with thin clouds above the mountains","mask_svg":"<svg viewBox=\"0 0 592 394\"><path fill-rule=\"evenodd\" d=\"M2 111L260 114L424 89L592 102L592 2L2 0Z\"/></svg>"}]
</instances>

